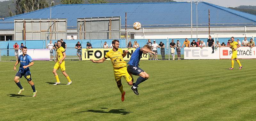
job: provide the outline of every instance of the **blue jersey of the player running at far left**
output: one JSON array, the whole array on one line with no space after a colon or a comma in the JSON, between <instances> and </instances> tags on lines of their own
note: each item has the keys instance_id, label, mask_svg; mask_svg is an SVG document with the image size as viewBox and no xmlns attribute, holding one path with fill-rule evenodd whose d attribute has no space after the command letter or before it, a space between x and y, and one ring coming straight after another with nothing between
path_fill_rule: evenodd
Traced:
<instances>
[{"instance_id":1,"label":"blue jersey of the player running at far left","mask_svg":"<svg viewBox=\"0 0 256 121\"><path fill-rule=\"evenodd\" d=\"M30 62L33 62L32 58L28 54L26 54L25 56L20 55L18 60L20 61L19 72L25 75L30 75L29 67L24 69L23 66L28 65Z\"/></svg>"}]
</instances>

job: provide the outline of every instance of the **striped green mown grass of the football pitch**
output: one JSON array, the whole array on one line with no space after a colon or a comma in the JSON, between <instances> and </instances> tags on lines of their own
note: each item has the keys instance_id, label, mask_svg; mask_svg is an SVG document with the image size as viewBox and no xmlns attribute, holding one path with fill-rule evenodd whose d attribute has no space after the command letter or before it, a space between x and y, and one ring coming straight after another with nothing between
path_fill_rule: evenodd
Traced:
<instances>
[{"instance_id":1,"label":"striped green mown grass of the football pitch","mask_svg":"<svg viewBox=\"0 0 256 121\"><path fill-rule=\"evenodd\" d=\"M139 85L140 95L122 78L124 102L110 61L66 61L68 86L61 71L61 85L52 85L54 62L35 61L36 97L24 77L18 95L15 62L0 62L1 120L256 120L255 60L240 62L242 70L236 62L227 70L230 60L141 61L150 77Z\"/></svg>"}]
</instances>

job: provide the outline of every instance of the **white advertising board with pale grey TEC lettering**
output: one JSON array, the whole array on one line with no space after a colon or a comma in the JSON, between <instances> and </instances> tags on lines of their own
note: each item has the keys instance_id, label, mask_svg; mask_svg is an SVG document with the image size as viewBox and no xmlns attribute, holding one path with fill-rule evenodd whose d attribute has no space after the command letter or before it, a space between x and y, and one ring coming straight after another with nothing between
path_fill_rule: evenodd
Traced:
<instances>
[{"instance_id":1,"label":"white advertising board with pale grey TEC lettering","mask_svg":"<svg viewBox=\"0 0 256 121\"><path fill-rule=\"evenodd\" d=\"M220 59L220 50L212 53L212 47L185 47L184 59Z\"/></svg>"}]
</instances>

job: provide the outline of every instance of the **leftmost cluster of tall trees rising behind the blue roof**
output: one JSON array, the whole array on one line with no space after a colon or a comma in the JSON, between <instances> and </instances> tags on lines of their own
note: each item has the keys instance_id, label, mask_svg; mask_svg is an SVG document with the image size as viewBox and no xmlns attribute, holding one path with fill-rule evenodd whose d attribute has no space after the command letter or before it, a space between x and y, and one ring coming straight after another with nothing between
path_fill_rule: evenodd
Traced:
<instances>
[{"instance_id":1,"label":"leftmost cluster of tall trees rising behind the blue roof","mask_svg":"<svg viewBox=\"0 0 256 121\"><path fill-rule=\"evenodd\" d=\"M16 15L49 7L47 0L16 0Z\"/></svg>"}]
</instances>

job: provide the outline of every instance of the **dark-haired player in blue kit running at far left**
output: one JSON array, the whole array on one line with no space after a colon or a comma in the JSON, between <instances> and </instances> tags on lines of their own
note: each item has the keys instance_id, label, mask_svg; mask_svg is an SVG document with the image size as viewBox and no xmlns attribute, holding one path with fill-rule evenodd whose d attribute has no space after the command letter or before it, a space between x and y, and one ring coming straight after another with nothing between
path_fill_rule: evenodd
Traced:
<instances>
[{"instance_id":1,"label":"dark-haired player in blue kit running at far left","mask_svg":"<svg viewBox=\"0 0 256 121\"><path fill-rule=\"evenodd\" d=\"M22 48L23 54L18 57L18 60L16 61L15 65L14 65L13 70L16 71L16 66L20 63L20 69L14 77L14 82L17 84L18 87L20 87L20 91L18 92L18 94L20 94L22 91L24 91L24 88L21 86L19 78L21 78L22 76L25 77L28 80L28 83L32 87L32 90L33 90L32 96L36 97L37 91L35 88L35 84L32 81L30 70L29 70L29 66L34 65L34 62L33 62L32 58L27 54L27 51L28 51L27 47Z\"/></svg>"}]
</instances>

